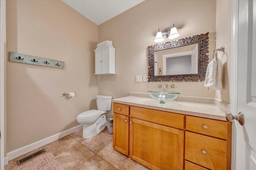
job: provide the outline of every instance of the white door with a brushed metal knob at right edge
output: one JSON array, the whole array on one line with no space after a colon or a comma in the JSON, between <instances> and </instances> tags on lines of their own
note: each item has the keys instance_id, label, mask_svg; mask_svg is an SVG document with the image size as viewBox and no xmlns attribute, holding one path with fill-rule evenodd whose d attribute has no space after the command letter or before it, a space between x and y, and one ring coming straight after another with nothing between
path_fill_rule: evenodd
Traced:
<instances>
[{"instance_id":1,"label":"white door with a brushed metal knob at right edge","mask_svg":"<svg viewBox=\"0 0 256 170\"><path fill-rule=\"evenodd\" d=\"M231 111L244 113L234 122L233 168L256 170L256 0L232 1Z\"/></svg>"}]
</instances>

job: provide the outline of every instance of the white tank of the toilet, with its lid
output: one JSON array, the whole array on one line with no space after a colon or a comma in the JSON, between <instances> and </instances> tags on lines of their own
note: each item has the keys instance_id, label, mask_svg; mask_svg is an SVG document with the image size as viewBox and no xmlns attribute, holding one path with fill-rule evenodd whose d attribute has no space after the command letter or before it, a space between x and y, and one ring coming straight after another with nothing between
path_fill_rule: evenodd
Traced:
<instances>
[{"instance_id":1,"label":"white tank of the toilet, with its lid","mask_svg":"<svg viewBox=\"0 0 256 170\"><path fill-rule=\"evenodd\" d=\"M100 111L110 110L111 101L112 101L112 96L103 96L103 95L96 96L97 107L98 107L98 110Z\"/></svg>"}]
</instances>

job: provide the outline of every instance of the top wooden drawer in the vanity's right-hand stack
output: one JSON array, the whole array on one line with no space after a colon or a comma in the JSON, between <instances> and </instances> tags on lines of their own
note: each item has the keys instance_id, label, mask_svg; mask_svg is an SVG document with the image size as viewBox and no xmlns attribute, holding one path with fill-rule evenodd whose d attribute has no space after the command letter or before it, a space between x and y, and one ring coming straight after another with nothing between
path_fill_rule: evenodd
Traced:
<instances>
[{"instance_id":1,"label":"top wooden drawer in the vanity's right-hand stack","mask_svg":"<svg viewBox=\"0 0 256 170\"><path fill-rule=\"evenodd\" d=\"M227 140L228 122L186 116L186 131L192 131Z\"/></svg>"}]
</instances>

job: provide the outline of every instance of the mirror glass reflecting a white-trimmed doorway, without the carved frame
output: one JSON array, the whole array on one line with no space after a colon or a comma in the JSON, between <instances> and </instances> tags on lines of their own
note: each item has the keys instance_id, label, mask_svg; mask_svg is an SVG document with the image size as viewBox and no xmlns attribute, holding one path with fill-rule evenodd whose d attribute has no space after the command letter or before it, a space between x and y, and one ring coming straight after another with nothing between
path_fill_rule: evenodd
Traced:
<instances>
[{"instance_id":1,"label":"mirror glass reflecting a white-trimmed doorway, without the carved frame","mask_svg":"<svg viewBox=\"0 0 256 170\"><path fill-rule=\"evenodd\" d=\"M198 44L154 52L154 75L198 73Z\"/></svg>"}]
</instances>

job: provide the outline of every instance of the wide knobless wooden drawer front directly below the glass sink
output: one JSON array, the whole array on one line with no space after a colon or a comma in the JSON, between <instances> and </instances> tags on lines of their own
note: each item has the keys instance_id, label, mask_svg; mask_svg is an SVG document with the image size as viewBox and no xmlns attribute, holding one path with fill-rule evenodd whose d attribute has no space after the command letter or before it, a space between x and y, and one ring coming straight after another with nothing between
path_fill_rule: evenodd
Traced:
<instances>
[{"instance_id":1,"label":"wide knobless wooden drawer front directly below the glass sink","mask_svg":"<svg viewBox=\"0 0 256 170\"><path fill-rule=\"evenodd\" d=\"M184 115L180 114L131 106L130 116L161 125L184 129Z\"/></svg>"}]
</instances>

